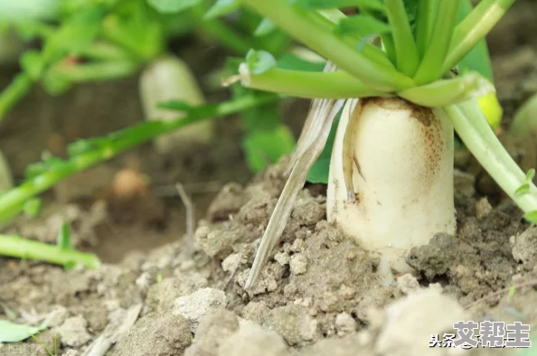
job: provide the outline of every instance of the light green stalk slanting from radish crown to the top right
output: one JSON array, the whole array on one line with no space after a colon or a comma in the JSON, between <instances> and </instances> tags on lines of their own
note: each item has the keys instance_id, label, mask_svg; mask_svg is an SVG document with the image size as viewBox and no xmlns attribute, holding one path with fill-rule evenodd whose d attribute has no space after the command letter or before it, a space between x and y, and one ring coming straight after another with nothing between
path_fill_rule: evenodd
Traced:
<instances>
[{"instance_id":1,"label":"light green stalk slanting from radish crown to the top right","mask_svg":"<svg viewBox=\"0 0 537 356\"><path fill-rule=\"evenodd\" d=\"M514 0L483 0L470 14L459 23L453 33L448 57L444 61L444 72L452 69L468 52L483 40L492 30L505 12L513 5Z\"/></svg>"}]
</instances>

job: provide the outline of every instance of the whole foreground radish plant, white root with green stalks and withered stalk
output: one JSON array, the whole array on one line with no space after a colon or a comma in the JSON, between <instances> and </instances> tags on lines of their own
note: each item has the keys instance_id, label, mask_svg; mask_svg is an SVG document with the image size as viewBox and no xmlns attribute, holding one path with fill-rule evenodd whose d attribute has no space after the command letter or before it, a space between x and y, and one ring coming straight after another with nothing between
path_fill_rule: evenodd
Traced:
<instances>
[{"instance_id":1,"label":"whole foreground radish plant, white root with green stalks and withered stalk","mask_svg":"<svg viewBox=\"0 0 537 356\"><path fill-rule=\"evenodd\" d=\"M467 0L240 3L328 61L324 72L292 70L279 68L270 53L250 52L240 73L228 80L314 98L247 290L259 279L345 100L332 147L327 218L381 256L386 284L392 272L410 270L405 263L410 248L456 231L454 128L532 220L536 188L499 143L477 102L495 89L492 78L478 74L488 74L486 49L481 62L473 51L483 50L485 35L513 0L483 0L476 8ZM360 14L347 17L337 9L348 6ZM522 186L527 187L523 194Z\"/></svg>"}]
</instances>

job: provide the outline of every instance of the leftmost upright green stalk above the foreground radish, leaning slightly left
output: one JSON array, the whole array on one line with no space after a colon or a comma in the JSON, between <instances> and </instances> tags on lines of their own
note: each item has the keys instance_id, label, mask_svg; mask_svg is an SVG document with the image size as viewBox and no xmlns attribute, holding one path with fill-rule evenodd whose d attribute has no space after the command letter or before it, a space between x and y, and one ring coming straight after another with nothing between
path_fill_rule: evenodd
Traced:
<instances>
[{"instance_id":1,"label":"leftmost upright green stalk above the foreground radish, leaning slightly left","mask_svg":"<svg viewBox=\"0 0 537 356\"><path fill-rule=\"evenodd\" d=\"M419 53L402 0L385 0L395 45L397 69L412 77L419 66Z\"/></svg>"}]
</instances>

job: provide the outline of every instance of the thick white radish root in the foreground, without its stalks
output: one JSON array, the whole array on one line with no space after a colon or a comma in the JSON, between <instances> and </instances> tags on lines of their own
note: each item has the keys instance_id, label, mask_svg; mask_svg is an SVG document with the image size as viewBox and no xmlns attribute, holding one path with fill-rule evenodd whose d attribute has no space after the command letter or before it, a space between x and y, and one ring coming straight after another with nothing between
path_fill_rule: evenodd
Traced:
<instances>
[{"instance_id":1,"label":"thick white radish root in the foreground, without its stalks","mask_svg":"<svg viewBox=\"0 0 537 356\"><path fill-rule=\"evenodd\" d=\"M410 248L455 233L453 127L438 110L400 98L347 102L326 201L330 222L380 254L380 272L412 272Z\"/></svg>"}]
</instances>

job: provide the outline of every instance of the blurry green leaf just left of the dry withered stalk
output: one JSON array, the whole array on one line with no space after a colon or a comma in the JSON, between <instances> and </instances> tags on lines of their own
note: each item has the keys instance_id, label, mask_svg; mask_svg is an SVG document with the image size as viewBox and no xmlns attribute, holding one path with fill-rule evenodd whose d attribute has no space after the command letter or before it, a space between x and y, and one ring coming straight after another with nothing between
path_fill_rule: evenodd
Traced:
<instances>
[{"instance_id":1,"label":"blurry green leaf just left of the dry withered stalk","mask_svg":"<svg viewBox=\"0 0 537 356\"><path fill-rule=\"evenodd\" d=\"M280 125L274 130L252 131L243 138L242 147L250 169L259 173L281 156L290 154L295 148L295 137L287 126Z\"/></svg>"}]
</instances>

